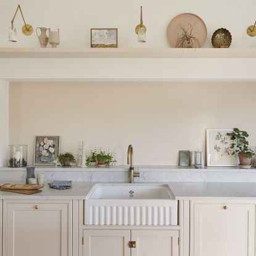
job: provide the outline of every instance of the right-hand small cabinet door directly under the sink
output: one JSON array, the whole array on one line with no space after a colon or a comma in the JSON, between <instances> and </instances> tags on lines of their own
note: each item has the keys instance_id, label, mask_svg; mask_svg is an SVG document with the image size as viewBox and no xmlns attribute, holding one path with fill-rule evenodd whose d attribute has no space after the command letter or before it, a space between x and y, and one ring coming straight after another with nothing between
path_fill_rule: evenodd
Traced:
<instances>
[{"instance_id":1,"label":"right-hand small cabinet door directly under the sink","mask_svg":"<svg viewBox=\"0 0 256 256\"><path fill-rule=\"evenodd\" d=\"M179 231L133 230L131 256L178 256Z\"/></svg>"}]
</instances>

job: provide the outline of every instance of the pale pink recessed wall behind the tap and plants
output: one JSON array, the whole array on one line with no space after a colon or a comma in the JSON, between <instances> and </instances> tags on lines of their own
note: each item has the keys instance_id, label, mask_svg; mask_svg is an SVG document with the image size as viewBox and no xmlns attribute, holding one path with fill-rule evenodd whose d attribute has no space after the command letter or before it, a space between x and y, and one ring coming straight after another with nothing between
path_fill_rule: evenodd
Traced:
<instances>
[{"instance_id":1,"label":"pale pink recessed wall behind the tap and plants","mask_svg":"<svg viewBox=\"0 0 256 256\"><path fill-rule=\"evenodd\" d=\"M177 165L179 150L203 149L206 128L237 126L256 146L255 83L10 83L10 144L59 135L60 151L104 147L134 164Z\"/></svg>"}]
</instances>

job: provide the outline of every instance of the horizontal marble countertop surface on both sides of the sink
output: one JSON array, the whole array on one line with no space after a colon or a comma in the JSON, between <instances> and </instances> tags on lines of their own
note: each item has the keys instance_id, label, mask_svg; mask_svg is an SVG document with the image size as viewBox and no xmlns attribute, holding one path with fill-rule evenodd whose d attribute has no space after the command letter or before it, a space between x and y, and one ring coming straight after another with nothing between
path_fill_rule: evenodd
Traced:
<instances>
[{"instance_id":1,"label":"horizontal marble countertop surface on both sides of the sink","mask_svg":"<svg viewBox=\"0 0 256 256\"><path fill-rule=\"evenodd\" d=\"M73 182L72 189L64 190L51 189L45 185L42 192L33 195L0 191L0 199L82 200L85 199L94 184L99 183ZM173 182L161 184L168 184L176 200L256 200L256 183Z\"/></svg>"}]
</instances>

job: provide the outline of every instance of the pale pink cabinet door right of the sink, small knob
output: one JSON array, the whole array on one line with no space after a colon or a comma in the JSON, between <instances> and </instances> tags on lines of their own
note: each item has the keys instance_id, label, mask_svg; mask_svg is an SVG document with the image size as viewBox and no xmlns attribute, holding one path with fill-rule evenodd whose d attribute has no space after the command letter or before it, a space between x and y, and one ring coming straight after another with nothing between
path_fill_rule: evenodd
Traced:
<instances>
[{"instance_id":1,"label":"pale pink cabinet door right of the sink, small knob","mask_svg":"<svg viewBox=\"0 0 256 256\"><path fill-rule=\"evenodd\" d=\"M191 256L254 256L254 231L254 204L191 204Z\"/></svg>"}]
</instances>

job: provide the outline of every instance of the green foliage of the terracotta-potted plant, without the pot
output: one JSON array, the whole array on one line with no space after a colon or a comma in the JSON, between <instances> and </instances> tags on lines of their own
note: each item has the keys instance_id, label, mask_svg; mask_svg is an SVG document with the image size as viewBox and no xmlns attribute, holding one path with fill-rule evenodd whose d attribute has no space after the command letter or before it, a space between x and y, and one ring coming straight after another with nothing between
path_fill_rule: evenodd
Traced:
<instances>
[{"instance_id":1,"label":"green foliage of the terracotta-potted plant, without the pot","mask_svg":"<svg viewBox=\"0 0 256 256\"><path fill-rule=\"evenodd\" d=\"M238 128L234 128L232 133L227 133L228 136L231 136L233 143L231 144L231 149L233 149L233 155L235 153L244 154L246 158L252 158L255 155L254 151L249 148L249 142L247 138L249 134L247 131L240 131Z\"/></svg>"}]
</instances>

